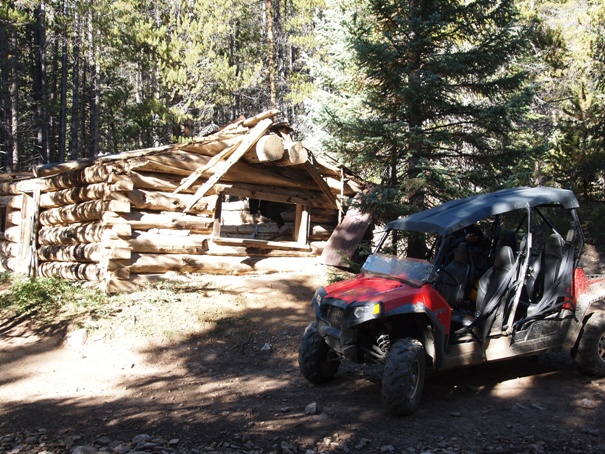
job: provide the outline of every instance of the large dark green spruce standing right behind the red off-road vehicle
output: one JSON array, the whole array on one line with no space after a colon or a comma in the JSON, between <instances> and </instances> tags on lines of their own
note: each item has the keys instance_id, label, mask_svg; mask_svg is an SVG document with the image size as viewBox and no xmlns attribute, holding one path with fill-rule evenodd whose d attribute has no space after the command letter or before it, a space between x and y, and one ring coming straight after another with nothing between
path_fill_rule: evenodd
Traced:
<instances>
[{"instance_id":1,"label":"large dark green spruce standing right behind the red off-road vehicle","mask_svg":"<svg viewBox=\"0 0 605 454\"><path fill-rule=\"evenodd\" d=\"M524 131L532 91L522 70L528 29L512 0L329 6L340 15L326 15L338 23L324 23L324 33L336 32L330 44L350 52L358 71L322 88L332 100L341 88L356 93L338 93L336 108L315 106L313 118L331 135L329 149L386 188L367 200L378 217L517 183L532 161Z\"/></svg>"}]
</instances>

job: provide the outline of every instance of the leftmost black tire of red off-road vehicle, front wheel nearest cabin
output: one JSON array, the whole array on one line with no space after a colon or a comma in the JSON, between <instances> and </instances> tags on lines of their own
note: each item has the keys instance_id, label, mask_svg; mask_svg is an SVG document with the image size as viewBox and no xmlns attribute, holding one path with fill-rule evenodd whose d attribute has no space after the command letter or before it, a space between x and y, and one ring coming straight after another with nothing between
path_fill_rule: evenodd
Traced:
<instances>
[{"instance_id":1,"label":"leftmost black tire of red off-road vehicle, front wheel nearest cabin","mask_svg":"<svg viewBox=\"0 0 605 454\"><path fill-rule=\"evenodd\" d=\"M327 383L338 371L340 360L317 331L317 322L305 329L298 347L298 367L303 377L316 385Z\"/></svg>"}]
</instances>

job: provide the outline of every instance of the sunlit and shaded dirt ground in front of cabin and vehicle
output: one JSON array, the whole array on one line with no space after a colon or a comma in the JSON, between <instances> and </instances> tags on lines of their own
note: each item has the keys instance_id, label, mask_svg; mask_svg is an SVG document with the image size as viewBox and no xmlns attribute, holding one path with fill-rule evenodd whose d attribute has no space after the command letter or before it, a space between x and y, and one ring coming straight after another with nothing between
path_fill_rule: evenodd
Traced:
<instances>
[{"instance_id":1,"label":"sunlit and shaded dirt ground in front of cabin and vehicle","mask_svg":"<svg viewBox=\"0 0 605 454\"><path fill-rule=\"evenodd\" d=\"M371 367L311 385L297 349L325 283L206 276L84 319L0 319L0 453L605 452L605 379L566 354L431 375L410 417Z\"/></svg>"}]
</instances>

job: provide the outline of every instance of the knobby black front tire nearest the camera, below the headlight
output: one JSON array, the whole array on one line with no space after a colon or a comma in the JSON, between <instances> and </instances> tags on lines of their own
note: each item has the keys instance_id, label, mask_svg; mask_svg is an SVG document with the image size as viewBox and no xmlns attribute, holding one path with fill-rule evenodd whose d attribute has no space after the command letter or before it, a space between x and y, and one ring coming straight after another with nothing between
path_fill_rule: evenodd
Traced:
<instances>
[{"instance_id":1,"label":"knobby black front tire nearest the camera, below the headlight","mask_svg":"<svg viewBox=\"0 0 605 454\"><path fill-rule=\"evenodd\" d=\"M411 415L420 405L426 358L416 339L396 341L387 355L382 375L382 402L393 415Z\"/></svg>"}]
</instances>

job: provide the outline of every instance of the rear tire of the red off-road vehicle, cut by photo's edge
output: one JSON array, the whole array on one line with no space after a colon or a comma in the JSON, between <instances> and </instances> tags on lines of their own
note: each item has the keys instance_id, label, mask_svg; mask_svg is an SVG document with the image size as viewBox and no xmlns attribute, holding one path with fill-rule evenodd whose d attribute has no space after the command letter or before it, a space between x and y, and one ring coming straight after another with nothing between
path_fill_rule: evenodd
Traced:
<instances>
[{"instance_id":1,"label":"rear tire of the red off-road vehicle, cut by photo's edge","mask_svg":"<svg viewBox=\"0 0 605 454\"><path fill-rule=\"evenodd\" d=\"M585 374L605 376L605 314L593 314L584 325L574 361Z\"/></svg>"}]
</instances>

